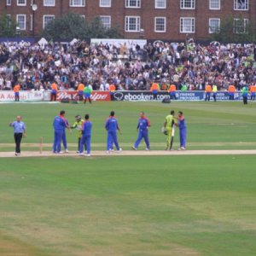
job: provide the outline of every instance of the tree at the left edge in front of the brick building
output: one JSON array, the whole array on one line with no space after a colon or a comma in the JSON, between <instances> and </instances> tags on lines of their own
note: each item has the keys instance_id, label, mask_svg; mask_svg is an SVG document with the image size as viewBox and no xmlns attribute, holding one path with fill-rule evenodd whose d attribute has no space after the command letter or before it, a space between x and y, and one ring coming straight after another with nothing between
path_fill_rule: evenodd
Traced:
<instances>
[{"instance_id":1,"label":"tree at the left edge in front of the brick building","mask_svg":"<svg viewBox=\"0 0 256 256\"><path fill-rule=\"evenodd\" d=\"M0 15L0 37L12 38L16 34L16 22L9 15Z\"/></svg>"}]
</instances>

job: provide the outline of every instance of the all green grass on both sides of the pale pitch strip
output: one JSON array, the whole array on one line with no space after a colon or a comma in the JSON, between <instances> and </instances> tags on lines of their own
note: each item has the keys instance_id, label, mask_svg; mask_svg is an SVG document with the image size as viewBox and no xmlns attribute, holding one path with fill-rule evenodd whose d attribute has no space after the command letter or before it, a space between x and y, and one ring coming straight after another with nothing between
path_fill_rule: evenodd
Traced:
<instances>
[{"instance_id":1,"label":"all green grass on both sides of the pale pitch strip","mask_svg":"<svg viewBox=\"0 0 256 256\"><path fill-rule=\"evenodd\" d=\"M152 149L165 147L166 114L182 110L189 149L256 148L255 103L94 102L0 104L0 154L13 150L8 127L24 116L23 150L50 150L52 120L64 108L73 123L90 113L92 150L104 149L104 122L116 111L122 148L137 138L138 113L151 120ZM67 135L70 149L76 131ZM27 143L24 145L24 143ZM178 131L175 147L178 145ZM141 146L143 149L143 145ZM0 255L254 255L255 156L0 159Z\"/></svg>"}]
</instances>

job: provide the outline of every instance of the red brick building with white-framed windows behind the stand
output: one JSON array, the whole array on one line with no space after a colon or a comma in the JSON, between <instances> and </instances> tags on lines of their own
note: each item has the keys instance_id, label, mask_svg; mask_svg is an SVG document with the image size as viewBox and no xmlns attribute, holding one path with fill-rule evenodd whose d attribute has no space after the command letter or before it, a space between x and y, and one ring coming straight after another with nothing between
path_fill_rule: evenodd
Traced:
<instances>
[{"instance_id":1,"label":"red brick building with white-framed windows behind the stand","mask_svg":"<svg viewBox=\"0 0 256 256\"><path fill-rule=\"evenodd\" d=\"M256 0L3 0L0 12L31 35L68 12L86 20L101 16L105 26L118 26L124 38L207 39L227 15L234 18L234 32L239 16L256 26Z\"/></svg>"}]
</instances>

